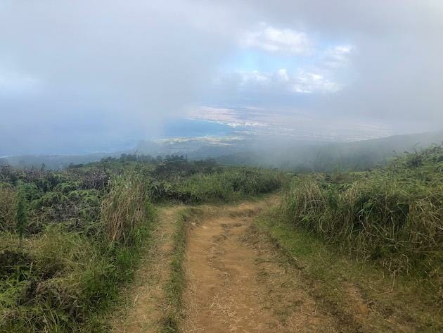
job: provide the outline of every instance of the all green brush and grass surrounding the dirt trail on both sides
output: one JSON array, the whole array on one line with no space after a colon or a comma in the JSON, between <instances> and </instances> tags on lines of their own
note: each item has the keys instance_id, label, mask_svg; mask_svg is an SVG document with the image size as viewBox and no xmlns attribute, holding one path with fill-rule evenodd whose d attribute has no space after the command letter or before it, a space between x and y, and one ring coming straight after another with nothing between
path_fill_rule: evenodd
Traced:
<instances>
[{"instance_id":1,"label":"all green brush and grass surrounding the dirt trail on both sides","mask_svg":"<svg viewBox=\"0 0 443 333\"><path fill-rule=\"evenodd\" d=\"M283 184L275 218L394 277L423 281L442 301L442 146L380 169L295 176L123 154L60 171L0 167L0 331L99 329L96 314L131 279L149 240L155 204L231 202ZM174 291L183 281L181 266L172 270Z\"/></svg>"}]
</instances>

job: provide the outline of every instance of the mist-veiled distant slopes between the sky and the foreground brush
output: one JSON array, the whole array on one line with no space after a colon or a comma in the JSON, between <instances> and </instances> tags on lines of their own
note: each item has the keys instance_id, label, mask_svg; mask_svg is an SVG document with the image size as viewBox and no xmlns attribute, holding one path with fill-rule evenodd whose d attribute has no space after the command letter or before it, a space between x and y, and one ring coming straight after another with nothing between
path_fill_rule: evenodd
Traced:
<instances>
[{"instance_id":1,"label":"mist-veiled distant slopes between the sky and the foreground brush","mask_svg":"<svg viewBox=\"0 0 443 333\"><path fill-rule=\"evenodd\" d=\"M183 155L190 160L215 158L221 164L252 165L298 171L366 170L386 163L387 158L404 151L439 144L443 132L407 134L359 142L292 141L276 137L226 137L169 139L162 142L142 141L135 149L118 153L88 155L11 156L1 163L18 168L58 170L73 164L100 161L107 156L136 153L153 157Z\"/></svg>"}]
</instances>

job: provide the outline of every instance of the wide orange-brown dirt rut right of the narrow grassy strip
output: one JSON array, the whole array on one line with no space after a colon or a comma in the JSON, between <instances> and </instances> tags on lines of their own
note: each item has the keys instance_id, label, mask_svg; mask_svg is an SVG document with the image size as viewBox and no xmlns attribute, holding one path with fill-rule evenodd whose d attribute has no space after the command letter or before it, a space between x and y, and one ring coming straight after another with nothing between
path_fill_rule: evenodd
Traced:
<instances>
[{"instance_id":1,"label":"wide orange-brown dirt rut right of the narrow grassy strip","mask_svg":"<svg viewBox=\"0 0 443 333\"><path fill-rule=\"evenodd\" d=\"M216 209L193 226L183 332L338 332L302 279L288 275L269 246L255 244L252 220L266 205Z\"/></svg>"}]
</instances>

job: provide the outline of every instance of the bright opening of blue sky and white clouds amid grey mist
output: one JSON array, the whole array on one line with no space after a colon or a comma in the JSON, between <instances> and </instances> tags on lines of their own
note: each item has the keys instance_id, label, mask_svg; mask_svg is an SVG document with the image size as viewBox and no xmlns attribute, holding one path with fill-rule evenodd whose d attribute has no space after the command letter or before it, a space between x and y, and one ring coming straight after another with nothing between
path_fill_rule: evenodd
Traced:
<instances>
[{"instance_id":1,"label":"bright opening of blue sky and white clouds amid grey mist","mask_svg":"<svg viewBox=\"0 0 443 333\"><path fill-rule=\"evenodd\" d=\"M241 33L239 41L247 61L224 68L215 82L223 92L236 90L257 104L274 99L278 105L282 95L340 91L348 83L346 73L356 50L352 44L325 46L314 33L277 29L264 22Z\"/></svg>"}]
</instances>

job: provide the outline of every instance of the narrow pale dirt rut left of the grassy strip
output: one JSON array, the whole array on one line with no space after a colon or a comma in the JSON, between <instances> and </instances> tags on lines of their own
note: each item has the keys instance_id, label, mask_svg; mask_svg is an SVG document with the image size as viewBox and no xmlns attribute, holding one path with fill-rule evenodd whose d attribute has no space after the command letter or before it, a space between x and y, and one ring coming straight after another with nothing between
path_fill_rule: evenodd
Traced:
<instances>
[{"instance_id":1,"label":"narrow pale dirt rut left of the grassy strip","mask_svg":"<svg viewBox=\"0 0 443 333\"><path fill-rule=\"evenodd\" d=\"M176 213L181 206L163 208L158 212L158 228L153 232L153 245L147 249L131 289L124 291L127 307L113 318L113 332L159 332L165 313L164 289L169 279L172 260Z\"/></svg>"}]
</instances>

